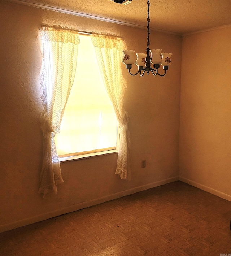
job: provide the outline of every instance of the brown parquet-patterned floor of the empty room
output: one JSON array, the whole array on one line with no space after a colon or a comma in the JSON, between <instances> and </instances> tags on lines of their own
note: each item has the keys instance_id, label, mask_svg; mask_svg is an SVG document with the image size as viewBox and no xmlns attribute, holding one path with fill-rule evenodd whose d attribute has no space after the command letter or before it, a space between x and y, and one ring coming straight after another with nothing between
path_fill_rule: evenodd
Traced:
<instances>
[{"instance_id":1,"label":"brown parquet-patterned floor of the empty room","mask_svg":"<svg viewBox=\"0 0 231 256\"><path fill-rule=\"evenodd\" d=\"M177 181L0 234L0 255L228 256L231 202Z\"/></svg>"}]
</instances>

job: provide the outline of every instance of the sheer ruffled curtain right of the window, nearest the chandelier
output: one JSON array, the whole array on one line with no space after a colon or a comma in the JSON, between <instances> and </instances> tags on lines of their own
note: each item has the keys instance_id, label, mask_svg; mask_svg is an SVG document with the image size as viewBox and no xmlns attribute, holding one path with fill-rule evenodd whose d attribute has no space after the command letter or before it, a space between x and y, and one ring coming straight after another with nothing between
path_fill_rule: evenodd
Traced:
<instances>
[{"instance_id":1,"label":"sheer ruffled curtain right of the window, nearest the chandelier","mask_svg":"<svg viewBox=\"0 0 231 256\"><path fill-rule=\"evenodd\" d=\"M121 70L122 51L126 49L126 44L123 38L113 34L93 32L91 38L104 85L119 123L119 152L115 174L121 179L127 179L130 178L130 133L128 113L123 107L127 82Z\"/></svg>"}]
</instances>

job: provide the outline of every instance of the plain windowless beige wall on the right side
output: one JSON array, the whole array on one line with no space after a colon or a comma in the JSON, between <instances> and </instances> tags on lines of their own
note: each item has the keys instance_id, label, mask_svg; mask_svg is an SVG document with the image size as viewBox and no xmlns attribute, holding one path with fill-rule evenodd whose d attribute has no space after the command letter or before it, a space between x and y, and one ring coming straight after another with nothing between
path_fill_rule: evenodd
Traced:
<instances>
[{"instance_id":1,"label":"plain windowless beige wall on the right side","mask_svg":"<svg viewBox=\"0 0 231 256\"><path fill-rule=\"evenodd\" d=\"M231 27L183 37L180 179L231 199ZM187 179L187 180L186 180Z\"/></svg>"}]
</instances>

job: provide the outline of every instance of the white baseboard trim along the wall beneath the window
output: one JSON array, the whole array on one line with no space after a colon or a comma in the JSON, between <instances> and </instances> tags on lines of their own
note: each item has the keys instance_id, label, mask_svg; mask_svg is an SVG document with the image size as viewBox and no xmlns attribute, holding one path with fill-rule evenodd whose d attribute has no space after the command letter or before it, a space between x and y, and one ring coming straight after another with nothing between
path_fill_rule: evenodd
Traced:
<instances>
[{"instance_id":1,"label":"white baseboard trim along the wall beneath the window","mask_svg":"<svg viewBox=\"0 0 231 256\"><path fill-rule=\"evenodd\" d=\"M4 231L11 230L11 229L16 229L17 227L26 226L26 225L29 225L29 224L32 224L35 222L47 220L49 218L53 218L53 217L56 217L56 216L59 216L59 215L65 214L65 213L74 212L74 211L77 211L77 210L80 210L80 209L83 209L86 207L90 207L90 206L93 206L96 204L101 204L106 201L121 198L123 196L131 195L131 194L143 191L143 190L147 190L149 188L158 187L158 186L161 186L161 185L164 185L164 184L167 184L170 182L178 181L178 180L179 180L179 177L175 176L175 177L172 177L169 179L164 179L162 181L157 181L157 182L149 183L149 184L146 184L143 186L139 186L139 187L125 190L125 191L121 191L121 192L118 192L118 193L115 193L112 195L107 195L107 196L103 196L101 198L93 199L93 200L75 204L75 205L71 205L66 208L58 209L56 211L52 211L52 212L44 213L41 215L33 216L31 218L11 222L11 223L0 226L0 233L4 232Z\"/></svg>"}]
</instances>

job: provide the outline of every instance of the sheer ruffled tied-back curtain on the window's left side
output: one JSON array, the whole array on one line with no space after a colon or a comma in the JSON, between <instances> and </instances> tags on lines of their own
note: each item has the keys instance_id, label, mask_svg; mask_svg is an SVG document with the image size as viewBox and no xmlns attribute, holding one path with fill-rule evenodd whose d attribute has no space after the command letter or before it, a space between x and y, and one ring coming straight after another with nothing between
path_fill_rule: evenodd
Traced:
<instances>
[{"instance_id":1,"label":"sheer ruffled tied-back curtain on the window's left side","mask_svg":"<svg viewBox=\"0 0 231 256\"><path fill-rule=\"evenodd\" d=\"M40 29L43 62L40 77L42 86L41 128L44 135L43 166L39 193L44 196L64 182L54 137L60 123L75 77L79 44L78 31L60 26L44 25Z\"/></svg>"}]
</instances>

